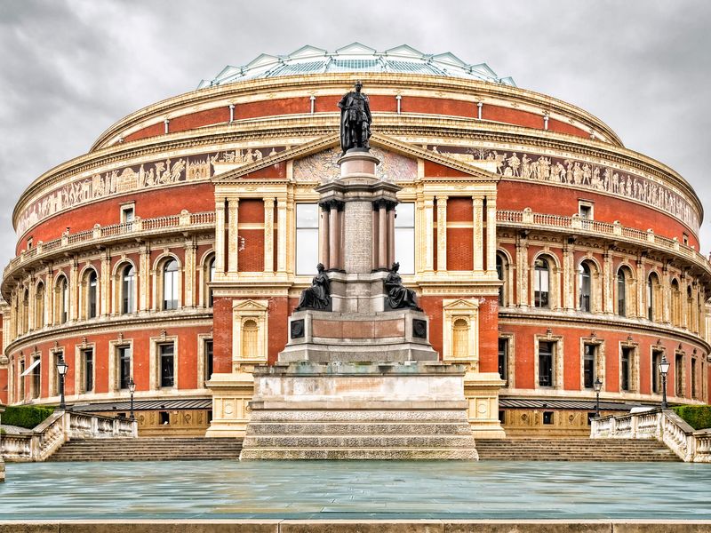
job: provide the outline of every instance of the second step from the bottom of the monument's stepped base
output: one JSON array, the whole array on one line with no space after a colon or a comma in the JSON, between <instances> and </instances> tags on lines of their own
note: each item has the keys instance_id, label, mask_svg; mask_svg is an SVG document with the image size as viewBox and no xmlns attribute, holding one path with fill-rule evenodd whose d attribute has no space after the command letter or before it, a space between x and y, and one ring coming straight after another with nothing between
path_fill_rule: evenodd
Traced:
<instances>
[{"instance_id":1,"label":"second step from the bottom of the monument's stepped base","mask_svg":"<svg viewBox=\"0 0 711 533\"><path fill-rule=\"evenodd\" d=\"M247 435L244 448L459 448L472 445L472 437L459 435Z\"/></svg>"}]
</instances>

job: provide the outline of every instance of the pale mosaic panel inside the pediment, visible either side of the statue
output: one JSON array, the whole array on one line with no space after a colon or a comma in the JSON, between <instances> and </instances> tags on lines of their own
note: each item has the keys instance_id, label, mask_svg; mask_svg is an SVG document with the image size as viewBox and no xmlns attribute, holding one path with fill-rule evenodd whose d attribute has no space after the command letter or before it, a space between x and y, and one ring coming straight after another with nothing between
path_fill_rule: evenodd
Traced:
<instances>
[{"instance_id":1,"label":"pale mosaic panel inside the pediment, visible either side of the statue","mask_svg":"<svg viewBox=\"0 0 711 533\"><path fill-rule=\"evenodd\" d=\"M293 177L296 181L326 182L340 176L340 150L328 148L318 154L308 155L294 162ZM384 181L412 181L417 178L417 160L404 155L371 148L371 154L378 157L380 163L376 175Z\"/></svg>"}]
</instances>

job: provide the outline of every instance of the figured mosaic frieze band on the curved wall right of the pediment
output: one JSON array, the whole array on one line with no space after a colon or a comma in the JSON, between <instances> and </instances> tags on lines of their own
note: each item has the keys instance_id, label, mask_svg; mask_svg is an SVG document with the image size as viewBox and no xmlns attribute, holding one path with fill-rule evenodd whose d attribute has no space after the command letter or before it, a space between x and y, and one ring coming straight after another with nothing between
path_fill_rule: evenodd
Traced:
<instances>
[{"instance_id":1,"label":"figured mosaic frieze band on the curved wall right of the pediment","mask_svg":"<svg viewBox=\"0 0 711 533\"><path fill-rule=\"evenodd\" d=\"M531 152L503 152L481 147L437 147L430 150L467 163L493 161L504 178L548 181L572 187L586 187L619 195L667 211L699 231L699 215L682 195L636 174L619 171L603 164Z\"/></svg>"}]
</instances>

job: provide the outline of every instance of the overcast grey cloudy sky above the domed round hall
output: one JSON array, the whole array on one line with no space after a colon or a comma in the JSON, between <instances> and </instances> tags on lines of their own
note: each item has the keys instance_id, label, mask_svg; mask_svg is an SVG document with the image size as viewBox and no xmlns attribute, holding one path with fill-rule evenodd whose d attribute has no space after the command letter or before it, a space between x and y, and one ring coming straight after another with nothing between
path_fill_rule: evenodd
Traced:
<instances>
[{"instance_id":1,"label":"overcast grey cloudy sky above the domed round hall","mask_svg":"<svg viewBox=\"0 0 711 533\"><path fill-rule=\"evenodd\" d=\"M12 258L14 204L41 173L225 65L303 44L410 44L486 62L670 165L709 218L709 24L700 0L0 0L0 263Z\"/></svg>"}]
</instances>

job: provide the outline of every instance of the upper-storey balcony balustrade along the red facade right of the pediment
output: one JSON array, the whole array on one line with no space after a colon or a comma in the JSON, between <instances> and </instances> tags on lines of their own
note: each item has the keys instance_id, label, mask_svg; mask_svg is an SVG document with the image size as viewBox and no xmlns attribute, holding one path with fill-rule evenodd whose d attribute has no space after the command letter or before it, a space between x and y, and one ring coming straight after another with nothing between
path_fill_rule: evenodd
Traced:
<instances>
[{"instance_id":1,"label":"upper-storey balcony balustrade along the red facade right of the pediment","mask_svg":"<svg viewBox=\"0 0 711 533\"><path fill-rule=\"evenodd\" d=\"M655 234L651 229L643 231L634 227L623 227L619 222L612 224L599 220L580 219L576 214L572 217L551 215L547 213L534 213L531 208L523 211L499 210L496 211L496 221L499 226L513 227L540 227L541 229L570 230L581 234L611 235L616 239L641 244L645 247L655 248L659 251L673 251L679 256L689 259L695 265L711 272L711 263L691 246L679 243L676 239L669 239Z\"/></svg>"}]
</instances>

